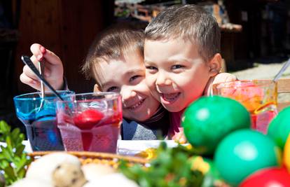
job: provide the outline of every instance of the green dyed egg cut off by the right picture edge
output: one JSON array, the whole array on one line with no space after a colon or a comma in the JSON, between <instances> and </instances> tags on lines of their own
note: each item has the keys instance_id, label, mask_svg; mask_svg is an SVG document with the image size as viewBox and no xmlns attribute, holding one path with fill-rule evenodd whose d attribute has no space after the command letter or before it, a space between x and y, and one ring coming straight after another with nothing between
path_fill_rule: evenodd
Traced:
<instances>
[{"instance_id":1,"label":"green dyed egg cut off by the right picture edge","mask_svg":"<svg viewBox=\"0 0 290 187\"><path fill-rule=\"evenodd\" d=\"M268 136L271 137L280 148L284 148L286 139L290 133L289 116L290 107L287 107L278 113L268 127Z\"/></svg>"}]
</instances>

